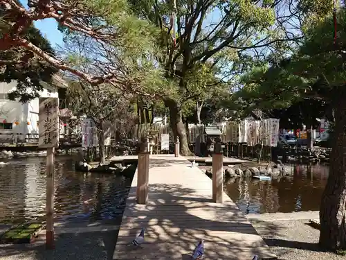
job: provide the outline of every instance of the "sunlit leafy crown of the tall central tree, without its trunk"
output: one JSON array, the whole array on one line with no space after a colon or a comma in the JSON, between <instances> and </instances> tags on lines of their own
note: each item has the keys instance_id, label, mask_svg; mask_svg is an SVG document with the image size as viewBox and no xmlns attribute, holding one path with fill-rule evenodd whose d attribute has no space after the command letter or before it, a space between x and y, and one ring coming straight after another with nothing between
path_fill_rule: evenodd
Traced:
<instances>
[{"instance_id":1,"label":"sunlit leafy crown of the tall central tree, without its trunk","mask_svg":"<svg viewBox=\"0 0 346 260\"><path fill-rule=\"evenodd\" d=\"M285 42L284 27L275 26L275 10L280 10L271 0L176 1L176 46L170 1L129 3L138 17L151 21L161 32L156 35L161 50L155 58L166 71L167 96L184 111L197 101L229 94L239 75L259 64L251 53L254 49L271 45L280 50L291 48Z\"/></svg>"}]
</instances>

